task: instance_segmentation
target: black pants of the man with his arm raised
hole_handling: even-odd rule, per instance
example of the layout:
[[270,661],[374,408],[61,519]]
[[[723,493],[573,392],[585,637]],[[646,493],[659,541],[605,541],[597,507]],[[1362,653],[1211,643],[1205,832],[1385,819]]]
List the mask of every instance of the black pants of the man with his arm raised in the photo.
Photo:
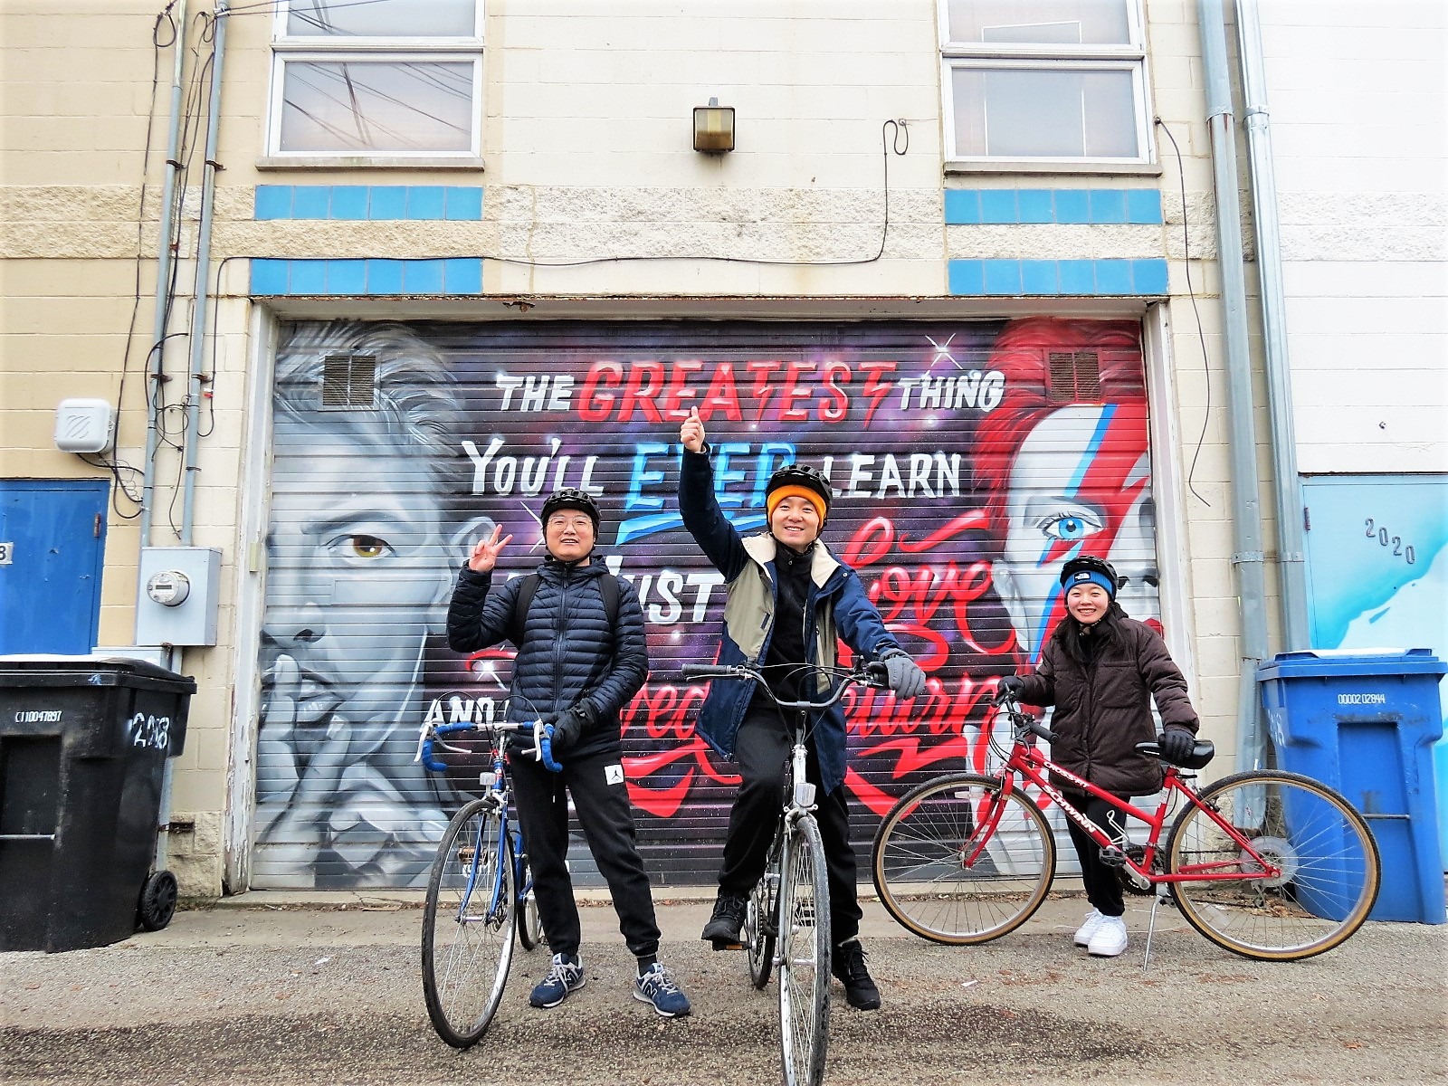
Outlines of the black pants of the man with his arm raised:
[[[815,821],[824,838],[824,862],[830,880],[830,934],[844,943],[860,934],[860,902],[856,888],[854,850],[850,849],[850,809],[844,785],[825,795],[811,736],[805,778],[815,785]],[[743,778],[728,815],[723,893],[747,895],[765,873],[769,846],[785,805],[785,770],[794,747],[794,730],[775,710],[752,710],[738,725],[734,760]]]

